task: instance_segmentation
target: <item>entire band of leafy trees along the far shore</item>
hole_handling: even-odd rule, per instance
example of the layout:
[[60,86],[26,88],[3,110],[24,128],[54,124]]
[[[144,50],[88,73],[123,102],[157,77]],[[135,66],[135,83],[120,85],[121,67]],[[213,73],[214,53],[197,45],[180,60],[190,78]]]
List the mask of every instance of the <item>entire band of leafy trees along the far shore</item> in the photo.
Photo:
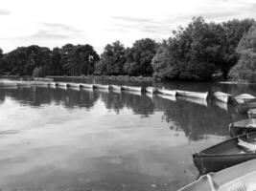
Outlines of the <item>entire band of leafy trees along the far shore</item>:
[[66,44],[53,50],[32,45],[10,53],[0,49],[0,74],[122,74],[159,80],[221,77],[256,81],[255,20],[207,23],[202,17],[195,17],[161,43],[144,38],[126,48],[116,41],[107,44],[101,55],[88,44]]

